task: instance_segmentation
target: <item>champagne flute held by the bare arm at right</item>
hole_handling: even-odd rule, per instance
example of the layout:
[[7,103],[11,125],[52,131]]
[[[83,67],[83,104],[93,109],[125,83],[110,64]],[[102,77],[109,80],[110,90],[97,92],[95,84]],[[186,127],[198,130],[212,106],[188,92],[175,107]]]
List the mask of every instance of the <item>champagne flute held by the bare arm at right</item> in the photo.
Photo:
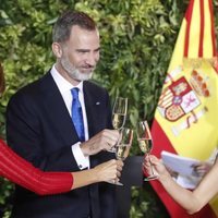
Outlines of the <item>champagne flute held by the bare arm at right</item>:
[[[149,157],[149,154],[153,148],[153,137],[152,137],[147,121],[141,121],[137,125],[137,142],[138,142],[141,150]],[[150,181],[150,180],[157,179],[157,175],[154,173],[152,162],[150,162],[150,171],[152,171],[152,174],[145,178],[144,181]]]

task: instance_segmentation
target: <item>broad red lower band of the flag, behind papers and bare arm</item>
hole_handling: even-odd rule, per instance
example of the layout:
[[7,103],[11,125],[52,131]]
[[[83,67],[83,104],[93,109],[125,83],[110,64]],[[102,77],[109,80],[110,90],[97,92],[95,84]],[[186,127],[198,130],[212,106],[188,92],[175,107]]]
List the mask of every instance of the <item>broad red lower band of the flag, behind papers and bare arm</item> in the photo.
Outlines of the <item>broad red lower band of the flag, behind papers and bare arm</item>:
[[[167,135],[165,134],[156,119],[154,119],[153,122],[152,134],[154,142],[154,155],[160,157],[160,153],[162,150],[175,153],[173,146],[171,145],[170,141],[168,140]],[[171,218],[217,218],[209,205],[206,205],[203,209],[194,215],[189,215],[179,204],[177,204],[170,197],[170,195],[165,191],[165,189],[158,181],[150,181],[150,184],[165,204]]]

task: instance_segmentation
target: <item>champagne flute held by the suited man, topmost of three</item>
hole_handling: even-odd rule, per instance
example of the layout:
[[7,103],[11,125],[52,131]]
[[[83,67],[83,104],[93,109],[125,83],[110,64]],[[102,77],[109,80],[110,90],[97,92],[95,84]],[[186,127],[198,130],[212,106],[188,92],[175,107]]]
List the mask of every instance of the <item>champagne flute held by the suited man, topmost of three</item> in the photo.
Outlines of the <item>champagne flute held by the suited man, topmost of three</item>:
[[[125,124],[128,113],[128,98],[116,97],[112,109],[112,125],[114,130],[121,130]],[[116,147],[111,147],[108,152],[116,153]]]

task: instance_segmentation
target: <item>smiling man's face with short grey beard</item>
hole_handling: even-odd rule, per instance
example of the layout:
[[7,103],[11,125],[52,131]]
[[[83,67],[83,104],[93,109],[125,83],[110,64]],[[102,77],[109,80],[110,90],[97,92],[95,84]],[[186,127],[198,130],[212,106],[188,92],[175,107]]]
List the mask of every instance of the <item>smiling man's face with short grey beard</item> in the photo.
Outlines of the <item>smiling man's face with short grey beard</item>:
[[89,80],[99,60],[99,49],[97,31],[73,26],[70,39],[62,46],[60,58],[66,77],[76,82]]

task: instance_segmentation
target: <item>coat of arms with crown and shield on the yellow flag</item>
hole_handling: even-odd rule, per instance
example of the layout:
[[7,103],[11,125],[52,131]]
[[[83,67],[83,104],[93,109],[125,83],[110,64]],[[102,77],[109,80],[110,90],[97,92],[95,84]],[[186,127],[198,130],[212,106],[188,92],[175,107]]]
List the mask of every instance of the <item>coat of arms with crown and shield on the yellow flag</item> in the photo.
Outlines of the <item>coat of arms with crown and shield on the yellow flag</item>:
[[[166,85],[169,85],[162,90],[157,107],[161,117],[168,121],[180,121],[171,128],[175,136],[181,131],[191,128],[208,111],[207,107],[202,104],[201,97],[208,98],[211,95],[209,77],[203,72],[192,70],[189,80],[182,73],[182,69],[178,68],[168,74]],[[180,77],[173,81],[175,75],[180,75]],[[186,118],[184,118],[185,116]]]

